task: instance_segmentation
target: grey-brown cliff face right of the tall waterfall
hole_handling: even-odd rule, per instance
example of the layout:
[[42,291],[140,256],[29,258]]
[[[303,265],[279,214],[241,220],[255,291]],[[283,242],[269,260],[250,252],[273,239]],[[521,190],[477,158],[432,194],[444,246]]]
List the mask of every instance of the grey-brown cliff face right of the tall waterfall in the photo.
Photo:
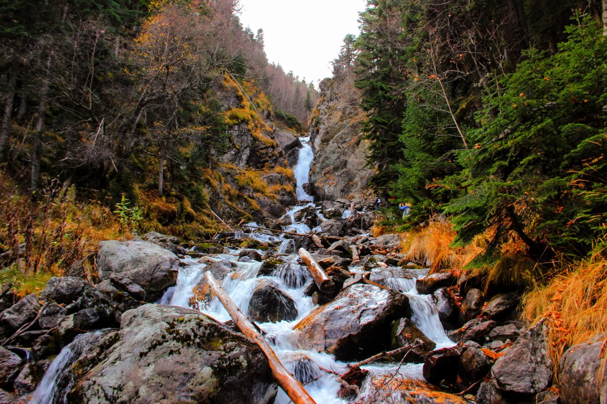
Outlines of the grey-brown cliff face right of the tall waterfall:
[[362,139],[365,116],[358,93],[351,84],[328,79],[320,90],[318,112],[310,123],[313,193],[320,200],[363,196],[374,170],[365,167],[368,141]]

